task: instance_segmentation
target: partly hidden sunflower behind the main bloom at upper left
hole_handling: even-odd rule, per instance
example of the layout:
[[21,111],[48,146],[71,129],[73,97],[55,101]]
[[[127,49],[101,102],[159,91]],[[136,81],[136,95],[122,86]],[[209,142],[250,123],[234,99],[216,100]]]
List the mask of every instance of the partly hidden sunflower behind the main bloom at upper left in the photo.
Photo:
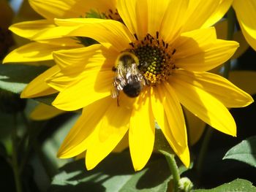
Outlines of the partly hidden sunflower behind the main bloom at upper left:
[[[34,35],[49,28],[54,28],[54,18],[86,18],[94,12],[118,20],[116,15],[116,0],[104,1],[78,1],[78,0],[29,0],[30,6],[42,16],[40,20],[24,21],[10,26],[10,31],[20,37],[32,40]],[[94,10],[94,12],[91,12]],[[4,58],[3,63],[26,63],[45,64],[45,61],[53,60],[53,51],[69,50],[84,47],[79,37],[57,38],[45,41],[33,41],[18,47]],[[50,64],[50,69],[32,80],[21,94],[22,97],[31,98],[36,96],[46,96],[56,93],[45,83],[45,78],[59,71],[58,66]]]

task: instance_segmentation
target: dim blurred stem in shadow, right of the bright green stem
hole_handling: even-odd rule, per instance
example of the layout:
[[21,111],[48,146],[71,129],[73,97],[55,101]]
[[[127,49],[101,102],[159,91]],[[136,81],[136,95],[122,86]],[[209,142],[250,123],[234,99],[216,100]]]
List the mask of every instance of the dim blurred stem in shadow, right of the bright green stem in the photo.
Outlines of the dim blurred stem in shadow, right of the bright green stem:
[[208,150],[208,145],[210,143],[211,140],[211,135],[213,132],[213,128],[211,128],[210,126],[206,126],[206,134],[203,137],[203,142],[200,148],[200,152],[197,158],[197,164],[195,165],[195,170],[197,172],[197,177],[200,179],[201,174],[202,174],[202,168],[203,168],[203,161],[206,157],[207,154],[207,150]]

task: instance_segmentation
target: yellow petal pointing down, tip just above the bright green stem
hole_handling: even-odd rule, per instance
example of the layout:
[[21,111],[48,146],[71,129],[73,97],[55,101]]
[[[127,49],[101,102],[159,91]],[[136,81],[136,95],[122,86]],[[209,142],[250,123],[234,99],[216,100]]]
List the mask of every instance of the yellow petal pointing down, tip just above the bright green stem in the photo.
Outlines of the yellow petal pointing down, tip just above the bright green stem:
[[[181,107],[179,103],[176,103],[178,102],[176,100],[176,94],[173,94],[169,99],[167,97],[170,96],[168,92],[169,91],[166,91],[164,86],[154,88],[154,94],[151,95],[152,111],[154,113],[154,118],[157,120],[157,123],[165,135],[167,142],[169,142],[170,147],[172,147],[173,151],[178,155],[184,165],[189,166],[189,149],[187,146],[187,132],[186,125],[184,123],[184,116],[182,111],[179,109],[178,112],[170,113],[170,110],[173,109],[170,108],[170,106],[165,106],[167,103],[173,103],[175,100],[174,106],[176,106],[176,108],[178,105]],[[167,100],[169,100],[169,102],[167,102]],[[170,109],[165,110],[165,108]],[[178,118],[176,118],[177,116]],[[177,132],[178,135],[176,135]],[[181,133],[183,134],[182,136]]]

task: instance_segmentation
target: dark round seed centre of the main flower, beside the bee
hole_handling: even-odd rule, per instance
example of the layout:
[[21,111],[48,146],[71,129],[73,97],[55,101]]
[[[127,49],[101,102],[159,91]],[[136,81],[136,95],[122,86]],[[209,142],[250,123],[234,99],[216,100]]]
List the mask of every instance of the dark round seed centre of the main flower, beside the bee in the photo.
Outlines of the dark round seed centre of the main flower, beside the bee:
[[173,54],[176,50],[159,38],[159,33],[152,37],[147,34],[143,40],[130,43],[132,49],[129,51],[134,53],[139,59],[138,69],[143,74],[148,85],[156,85],[167,78],[176,68],[174,64]]

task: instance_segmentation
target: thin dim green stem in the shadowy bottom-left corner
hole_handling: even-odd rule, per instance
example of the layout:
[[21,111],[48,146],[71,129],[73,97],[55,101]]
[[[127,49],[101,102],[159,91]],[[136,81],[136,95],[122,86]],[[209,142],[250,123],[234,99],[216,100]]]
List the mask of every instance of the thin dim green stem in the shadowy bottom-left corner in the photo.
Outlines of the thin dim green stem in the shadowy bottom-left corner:
[[17,115],[14,114],[14,126],[12,128],[12,169],[15,178],[16,191],[22,191],[20,180],[20,172],[18,168],[18,153],[17,153]]

